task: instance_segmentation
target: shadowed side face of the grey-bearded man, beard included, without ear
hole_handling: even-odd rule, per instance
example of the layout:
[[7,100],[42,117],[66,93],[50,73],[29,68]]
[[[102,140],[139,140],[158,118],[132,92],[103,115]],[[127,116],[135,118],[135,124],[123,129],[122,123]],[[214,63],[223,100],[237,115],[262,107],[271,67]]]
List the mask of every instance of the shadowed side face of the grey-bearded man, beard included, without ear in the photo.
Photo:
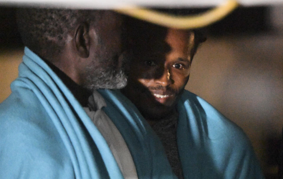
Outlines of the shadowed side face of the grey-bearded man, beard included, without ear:
[[90,28],[94,42],[90,50],[91,63],[87,65],[84,86],[90,89],[122,88],[126,86],[125,58],[122,55],[119,14],[101,11],[95,27]]

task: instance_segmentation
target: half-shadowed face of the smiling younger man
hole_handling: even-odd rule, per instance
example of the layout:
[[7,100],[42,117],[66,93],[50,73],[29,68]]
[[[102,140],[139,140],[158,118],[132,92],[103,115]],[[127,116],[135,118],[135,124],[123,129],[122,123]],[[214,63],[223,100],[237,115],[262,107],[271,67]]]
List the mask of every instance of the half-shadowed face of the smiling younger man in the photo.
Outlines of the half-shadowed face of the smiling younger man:
[[[141,35],[143,36],[143,35]],[[152,30],[135,44],[128,85],[123,93],[148,119],[175,109],[189,79],[194,34],[177,29]]]

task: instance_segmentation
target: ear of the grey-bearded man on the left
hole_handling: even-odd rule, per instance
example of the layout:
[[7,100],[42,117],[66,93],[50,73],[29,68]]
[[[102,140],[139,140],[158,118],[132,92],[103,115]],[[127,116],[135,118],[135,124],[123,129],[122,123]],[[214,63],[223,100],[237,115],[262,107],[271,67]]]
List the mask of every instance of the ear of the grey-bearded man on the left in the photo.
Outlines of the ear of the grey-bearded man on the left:
[[78,26],[75,33],[75,47],[82,58],[88,58],[90,37],[89,37],[89,25],[88,23],[82,23]]

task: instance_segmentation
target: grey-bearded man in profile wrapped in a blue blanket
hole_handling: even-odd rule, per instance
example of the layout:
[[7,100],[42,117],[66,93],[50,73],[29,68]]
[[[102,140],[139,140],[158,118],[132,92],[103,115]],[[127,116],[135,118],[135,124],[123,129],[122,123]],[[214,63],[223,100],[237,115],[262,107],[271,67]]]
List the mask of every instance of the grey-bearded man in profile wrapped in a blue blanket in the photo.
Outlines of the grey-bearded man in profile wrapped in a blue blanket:
[[0,104],[0,178],[176,179],[136,108],[99,89],[127,81],[121,17],[59,9],[18,17],[27,47]]

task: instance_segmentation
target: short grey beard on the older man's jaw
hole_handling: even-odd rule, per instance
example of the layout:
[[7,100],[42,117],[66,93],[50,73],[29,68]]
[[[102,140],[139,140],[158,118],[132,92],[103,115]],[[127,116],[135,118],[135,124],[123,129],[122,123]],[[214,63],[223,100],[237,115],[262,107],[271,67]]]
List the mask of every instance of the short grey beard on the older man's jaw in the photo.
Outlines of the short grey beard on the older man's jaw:
[[126,86],[127,76],[124,69],[114,70],[113,67],[86,69],[84,87],[95,90],[99,88],[120,89]]

